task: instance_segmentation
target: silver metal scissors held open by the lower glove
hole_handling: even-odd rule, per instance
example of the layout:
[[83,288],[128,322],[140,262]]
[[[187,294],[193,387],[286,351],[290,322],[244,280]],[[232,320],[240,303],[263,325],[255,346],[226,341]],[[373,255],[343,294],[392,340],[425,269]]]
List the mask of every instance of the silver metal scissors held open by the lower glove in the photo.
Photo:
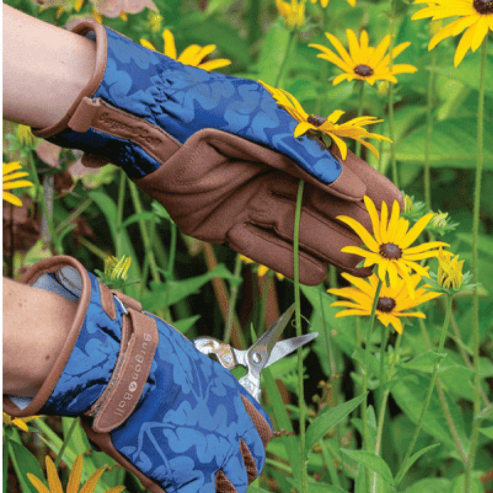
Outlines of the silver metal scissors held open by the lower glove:
[[318,332],[313,332],[276,342],[293,313],[294,304],[254,344],[243,351],[212,337],[198,337],[193,343],[195,348],[203,354],[214,355],[228,370],[244,366],[247,373],[238,382],[259,402],[260,372],[318,336]]

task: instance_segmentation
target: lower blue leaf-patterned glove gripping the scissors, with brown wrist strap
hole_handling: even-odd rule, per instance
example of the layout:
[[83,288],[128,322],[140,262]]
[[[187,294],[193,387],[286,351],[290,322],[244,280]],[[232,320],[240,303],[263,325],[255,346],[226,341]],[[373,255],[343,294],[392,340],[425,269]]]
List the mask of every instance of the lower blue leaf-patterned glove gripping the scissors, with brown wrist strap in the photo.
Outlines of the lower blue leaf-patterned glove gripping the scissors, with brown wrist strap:
[[4,395],[5,412],[81,416],[90,441],[152,493],[246,492],[272,430],[228,370],[72,257],[42,260],[21,282],[78,306],[35,397]]

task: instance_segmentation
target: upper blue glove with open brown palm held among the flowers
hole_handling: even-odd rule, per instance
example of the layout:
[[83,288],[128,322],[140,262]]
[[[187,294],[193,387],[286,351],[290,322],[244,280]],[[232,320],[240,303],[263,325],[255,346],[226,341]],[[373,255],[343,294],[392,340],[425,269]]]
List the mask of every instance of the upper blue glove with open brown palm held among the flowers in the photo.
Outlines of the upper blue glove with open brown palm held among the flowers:
[[82,149],[85,164],[121,166],[183,233],[225,244],[291,279],[296,193],[306,182],[300,281],[320,283],[327,263],[354,275],[359,238],[337,215],[371,227],[363,196],[390,207],[397,188],[351,152],[293,137],[297,122],[258,82],[182,65],[97,22],[96,68],[67,115],[35,134]]

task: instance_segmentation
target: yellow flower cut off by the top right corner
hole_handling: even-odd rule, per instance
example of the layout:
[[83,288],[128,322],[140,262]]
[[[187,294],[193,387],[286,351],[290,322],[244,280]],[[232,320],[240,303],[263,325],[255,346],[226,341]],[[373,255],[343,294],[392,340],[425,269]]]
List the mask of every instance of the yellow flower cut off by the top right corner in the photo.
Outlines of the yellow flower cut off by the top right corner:
[[426,6],[415,12],[411,19],[432,20],[458,19],[440,29],[430,40],[428,50],[432,50],[440,41],[457,36],[465,30],[458,42],[454,55],[454,66],[462,61],[467,50],[476,51],[488,31],[493,31],[493,0],[415,0],[414,3],[425,3]]

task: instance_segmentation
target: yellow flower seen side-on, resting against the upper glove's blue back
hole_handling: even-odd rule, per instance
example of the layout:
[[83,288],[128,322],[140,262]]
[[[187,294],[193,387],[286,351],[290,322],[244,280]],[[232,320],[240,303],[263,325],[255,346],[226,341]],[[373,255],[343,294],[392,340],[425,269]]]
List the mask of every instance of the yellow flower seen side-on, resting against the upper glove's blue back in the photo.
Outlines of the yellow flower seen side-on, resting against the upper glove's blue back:
[[329,136],[337,145],[341,152],[343,161],[348,154],[348,146],[341,138],[350,138],[370,149],[378,159],[378,151],[376,147],[363,139],[377,139],[378,141],[388,141],[387,137],[379,134],[368,132],[364,126],[379,123],[383,120],[377,120],[374,116],[360,116],[353,118],[345,123],[338,124],[337,121],[344,114],[344,111],[337,109],[333,111],[327,118],[320,115],[309,115],[298,100],[283,89],[276,89],[269,86],[265,82],[260,83],[271,93],[272,97],[281,105],[298,123],[294,129],[294,137],[299,137],[307,132],[320,136],[323,140],[323,135]]

